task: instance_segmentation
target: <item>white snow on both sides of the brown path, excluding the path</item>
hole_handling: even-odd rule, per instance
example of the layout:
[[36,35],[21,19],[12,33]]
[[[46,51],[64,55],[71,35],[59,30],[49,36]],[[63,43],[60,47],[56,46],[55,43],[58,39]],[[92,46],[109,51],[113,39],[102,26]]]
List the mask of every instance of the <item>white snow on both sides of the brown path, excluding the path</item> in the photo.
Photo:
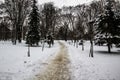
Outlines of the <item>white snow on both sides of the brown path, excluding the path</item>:
[[[107,53],[106,46],[94,46],[94,58],[89,58],[90,43],[85,42],[85,50],[81,46],[63,42],[70,58],[72,80],[120,80],[120,48],[112,48]],[[29,80],[40,73],[59,51],[58,41],[52,48],[45,46],[31,47],[31,57],[27,57],[27,45],[12,45],[11,42],[0,42],[0,80]]]

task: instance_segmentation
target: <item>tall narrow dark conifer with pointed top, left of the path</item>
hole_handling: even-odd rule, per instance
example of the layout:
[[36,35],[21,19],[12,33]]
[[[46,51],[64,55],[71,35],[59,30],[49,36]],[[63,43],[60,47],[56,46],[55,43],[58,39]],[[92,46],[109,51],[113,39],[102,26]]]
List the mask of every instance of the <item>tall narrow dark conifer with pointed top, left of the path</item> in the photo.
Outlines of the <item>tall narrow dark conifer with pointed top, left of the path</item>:
[[39,40],[39,13],[36,6],[36,0],[33,0],[32,11],[29,15],[29,30],[27,33],[26,43],[31,46],[33,44],[38,45]]

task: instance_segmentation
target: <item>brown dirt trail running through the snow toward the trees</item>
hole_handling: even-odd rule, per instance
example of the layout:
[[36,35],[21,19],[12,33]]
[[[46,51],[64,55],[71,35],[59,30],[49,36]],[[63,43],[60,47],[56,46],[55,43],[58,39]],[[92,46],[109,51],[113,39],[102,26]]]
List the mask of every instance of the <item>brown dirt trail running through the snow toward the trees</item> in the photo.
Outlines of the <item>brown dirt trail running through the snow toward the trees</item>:
[[69,56],[67,54],[67,48],[61,42],[60,51],[56,57],[50,61],[47,69],[43,73],[37,75],[37,80],[70,80],[69,73]]

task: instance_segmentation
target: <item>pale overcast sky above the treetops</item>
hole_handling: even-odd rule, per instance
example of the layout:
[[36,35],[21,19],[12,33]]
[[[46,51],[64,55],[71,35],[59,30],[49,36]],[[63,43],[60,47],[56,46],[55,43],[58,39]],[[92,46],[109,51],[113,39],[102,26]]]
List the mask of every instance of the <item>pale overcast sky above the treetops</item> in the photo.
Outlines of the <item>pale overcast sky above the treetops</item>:
[[[4,0],[0,0],[4,1]],[[89,3],[92,0],[38,0],[39,4],[43,4],[45,2],[54,2],[55,6],[62,7],[62,6],[74,6],[77,4]]]

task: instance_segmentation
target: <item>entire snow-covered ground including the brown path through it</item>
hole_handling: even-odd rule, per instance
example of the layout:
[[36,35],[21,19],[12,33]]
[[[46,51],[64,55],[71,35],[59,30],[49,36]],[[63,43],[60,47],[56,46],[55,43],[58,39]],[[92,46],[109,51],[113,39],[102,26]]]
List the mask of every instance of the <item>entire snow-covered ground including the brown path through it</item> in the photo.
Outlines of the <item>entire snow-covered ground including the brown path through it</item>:
[[94,58],[89,55],[90,43],[76,48],[72,43],[55,41],[44,51],[31,47],[27,57],[25,43],[12,45],[0,42],[0,80],[120,80],[120,48],[118,54],[105,54],[106,46],[94,46]]

